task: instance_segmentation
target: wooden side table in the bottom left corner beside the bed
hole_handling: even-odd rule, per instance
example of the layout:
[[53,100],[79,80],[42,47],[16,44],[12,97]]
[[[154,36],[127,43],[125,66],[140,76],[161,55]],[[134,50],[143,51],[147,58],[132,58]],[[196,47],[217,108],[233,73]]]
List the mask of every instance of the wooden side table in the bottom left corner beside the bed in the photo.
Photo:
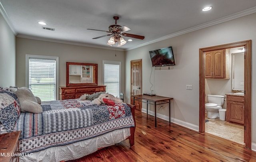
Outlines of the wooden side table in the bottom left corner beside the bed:
[[0,135],[0,162],[19,161],[20,131]]

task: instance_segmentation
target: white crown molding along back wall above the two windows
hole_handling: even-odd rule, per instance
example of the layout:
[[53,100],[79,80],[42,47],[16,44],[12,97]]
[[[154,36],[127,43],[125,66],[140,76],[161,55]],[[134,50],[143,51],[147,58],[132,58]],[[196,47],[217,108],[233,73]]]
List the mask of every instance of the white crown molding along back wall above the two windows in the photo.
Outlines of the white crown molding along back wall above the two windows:
[[63,41],[63,40],[54,40],[54,39],[49,39],[49,38],[39,38],[39,37],[22,35],[22,34],[18,34],[16,37],[26,38],[26,39],[31,39],[31,40],[50,41],[50,42],[54,42],[54,43],[64,43],[64,44],[70,44],[70,45],[80,45],[80,46],[84,46],[84,47],[101,48],[101,49],[109,49],[109,50],[116,50],[116,51],[125,51],[125,49],[122,49],[122,48],[104,47],[102,45],[89,45],[89,44],[86,44],[86,43],[80,43],[80,42],[74,42],[74,41]]

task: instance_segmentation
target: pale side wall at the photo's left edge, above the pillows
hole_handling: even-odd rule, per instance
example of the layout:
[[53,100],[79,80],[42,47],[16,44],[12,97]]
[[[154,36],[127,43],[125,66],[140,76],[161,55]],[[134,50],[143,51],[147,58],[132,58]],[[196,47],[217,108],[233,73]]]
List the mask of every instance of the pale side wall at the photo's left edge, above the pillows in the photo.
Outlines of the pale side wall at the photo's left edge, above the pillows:
[[0,87],[15,86],[15,35],[0,14]]

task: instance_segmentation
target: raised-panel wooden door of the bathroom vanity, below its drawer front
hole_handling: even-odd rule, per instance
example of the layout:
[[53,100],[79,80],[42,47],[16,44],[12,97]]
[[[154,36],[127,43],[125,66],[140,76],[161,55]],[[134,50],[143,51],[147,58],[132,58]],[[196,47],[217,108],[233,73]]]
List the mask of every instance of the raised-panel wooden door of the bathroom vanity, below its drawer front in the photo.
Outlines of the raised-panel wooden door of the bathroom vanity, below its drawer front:
[[244,124],[244,103],[229,101],[229,121]]

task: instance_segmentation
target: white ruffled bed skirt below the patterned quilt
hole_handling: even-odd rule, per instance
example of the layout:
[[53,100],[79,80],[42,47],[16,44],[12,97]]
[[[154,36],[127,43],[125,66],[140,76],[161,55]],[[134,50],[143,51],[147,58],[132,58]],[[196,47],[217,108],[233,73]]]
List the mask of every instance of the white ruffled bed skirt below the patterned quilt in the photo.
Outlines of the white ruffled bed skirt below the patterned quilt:
[[130,128],[118,129],[88,140],[24,154],[24,156],[20,156],[20,162],[59,162],[62,160],[74,160],[96,152],[99,148],[119,143],[128,136],[130,136]]

